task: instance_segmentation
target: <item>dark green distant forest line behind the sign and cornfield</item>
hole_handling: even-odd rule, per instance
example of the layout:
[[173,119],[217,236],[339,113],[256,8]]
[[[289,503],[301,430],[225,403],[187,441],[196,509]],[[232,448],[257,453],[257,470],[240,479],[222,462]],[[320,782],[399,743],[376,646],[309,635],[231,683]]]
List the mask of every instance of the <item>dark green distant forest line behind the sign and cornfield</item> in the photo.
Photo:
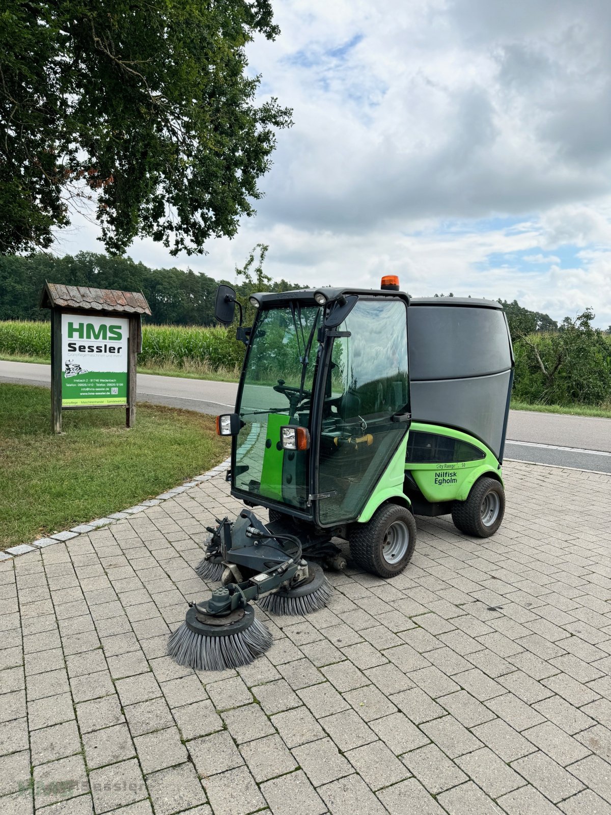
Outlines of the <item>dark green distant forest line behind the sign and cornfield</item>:
[[[215,324],[217,286],[226,282],[176,268],[150,269],[131,258],[109,258],[93,252],[64,258],[44,252],[28,257],[0,256],[0,320],[49,319],[50,312],[38,308],[45,280],[94,289],[141,291],[151,306],[152,323],[178,325]],[[248,282],[238,291],[244,291],[243,300],[248,302],[245,287]],[[297,288],[286,280],[271,285],[272,290],[280,292]]]

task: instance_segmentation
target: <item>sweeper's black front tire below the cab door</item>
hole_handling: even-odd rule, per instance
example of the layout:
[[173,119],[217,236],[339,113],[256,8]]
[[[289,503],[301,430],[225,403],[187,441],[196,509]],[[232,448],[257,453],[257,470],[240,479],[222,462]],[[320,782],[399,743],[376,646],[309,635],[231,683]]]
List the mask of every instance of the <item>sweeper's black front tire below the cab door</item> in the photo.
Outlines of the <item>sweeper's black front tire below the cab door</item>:
[[[395,526],[397,525],[397,526]],[[393,527],[393,530],[391,530]],[[389,535],[392,535],[389,541]],[[393,539],[405,541],[407,545],[401,557],[389,562],[385,556],[390,546],[391,556]],[[382,504],[367,523],[355,523],[349,531],[350,554],[355,563],[365,571],[379,577],[394,577],[405,569],[411,561],[415,548],[416,526],[414,516],[409,509],[399,504]],[[401,552],[404,543],[397,544]]]

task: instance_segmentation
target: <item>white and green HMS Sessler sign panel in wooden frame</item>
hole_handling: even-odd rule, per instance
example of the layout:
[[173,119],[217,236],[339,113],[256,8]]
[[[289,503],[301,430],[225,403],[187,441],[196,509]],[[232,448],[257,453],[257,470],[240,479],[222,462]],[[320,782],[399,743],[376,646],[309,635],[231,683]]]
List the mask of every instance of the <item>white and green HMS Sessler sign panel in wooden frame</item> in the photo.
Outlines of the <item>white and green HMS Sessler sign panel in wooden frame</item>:
[[127,339],[130,320],[62,315],[62,403],[127,403]]

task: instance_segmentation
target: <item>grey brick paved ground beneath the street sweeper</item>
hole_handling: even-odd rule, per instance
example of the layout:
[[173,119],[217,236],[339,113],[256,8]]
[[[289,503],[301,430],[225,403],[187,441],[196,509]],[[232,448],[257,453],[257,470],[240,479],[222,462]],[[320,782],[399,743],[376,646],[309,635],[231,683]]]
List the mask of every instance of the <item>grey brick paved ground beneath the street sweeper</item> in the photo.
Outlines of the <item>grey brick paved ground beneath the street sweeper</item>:
[[2,562],[0,812],[609,815],[611,478],[505,472],[494,538],[419,519],[237,672],[165,657],[223,478]]

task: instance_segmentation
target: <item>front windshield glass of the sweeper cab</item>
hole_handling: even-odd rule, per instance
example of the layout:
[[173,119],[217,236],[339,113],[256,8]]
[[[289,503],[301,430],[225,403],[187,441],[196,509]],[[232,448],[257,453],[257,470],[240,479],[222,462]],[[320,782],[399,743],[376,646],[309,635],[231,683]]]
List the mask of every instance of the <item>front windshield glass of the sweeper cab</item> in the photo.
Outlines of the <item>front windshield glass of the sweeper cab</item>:
[[237,412],[234,487],[306,509],[309,451],[284,451],[280,427],[310,428],[319,306],[262,311],[253,328]]

